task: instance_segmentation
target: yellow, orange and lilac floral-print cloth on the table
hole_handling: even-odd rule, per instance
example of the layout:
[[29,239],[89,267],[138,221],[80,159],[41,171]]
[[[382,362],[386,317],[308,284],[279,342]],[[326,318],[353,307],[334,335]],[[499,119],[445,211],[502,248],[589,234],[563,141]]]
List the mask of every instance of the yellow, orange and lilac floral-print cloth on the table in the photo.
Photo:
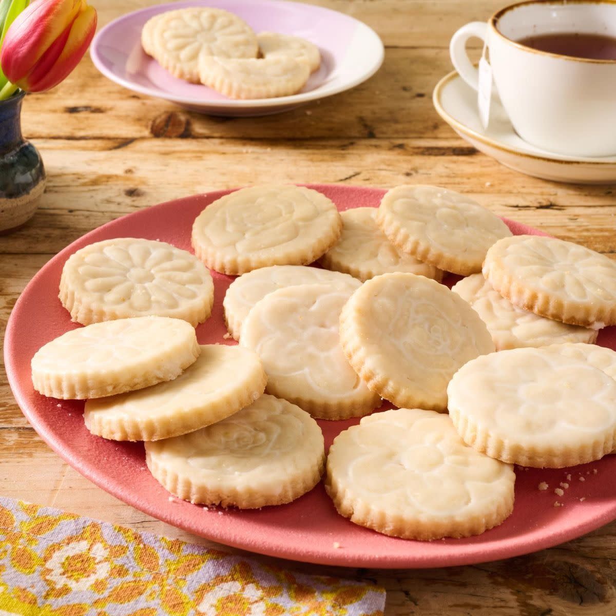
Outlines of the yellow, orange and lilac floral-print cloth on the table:
[[0,498],[0,614],[381,616],[385,591]]

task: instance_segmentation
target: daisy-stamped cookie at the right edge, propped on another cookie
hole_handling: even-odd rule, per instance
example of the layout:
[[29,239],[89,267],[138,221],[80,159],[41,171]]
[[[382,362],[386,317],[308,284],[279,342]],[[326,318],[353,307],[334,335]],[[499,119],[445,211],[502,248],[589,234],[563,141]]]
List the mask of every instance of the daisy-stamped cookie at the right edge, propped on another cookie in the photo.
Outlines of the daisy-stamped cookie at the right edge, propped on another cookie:
[[519,308],[571,325],[616,325],[616,263],[584,246],[516,235],[488,250],[483,272]]

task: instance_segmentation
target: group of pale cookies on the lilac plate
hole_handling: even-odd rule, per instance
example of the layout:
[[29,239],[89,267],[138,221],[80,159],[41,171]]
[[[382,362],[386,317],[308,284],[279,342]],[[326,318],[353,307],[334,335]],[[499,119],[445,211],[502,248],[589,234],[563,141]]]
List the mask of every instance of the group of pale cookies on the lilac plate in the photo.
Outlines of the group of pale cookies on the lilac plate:
[[208,7],[150,18],[141,44],[180,79],[202,83],[233,99],[265,99],[299,92],[318,69],[317,46],[298,36],[255,34],[237,15]]

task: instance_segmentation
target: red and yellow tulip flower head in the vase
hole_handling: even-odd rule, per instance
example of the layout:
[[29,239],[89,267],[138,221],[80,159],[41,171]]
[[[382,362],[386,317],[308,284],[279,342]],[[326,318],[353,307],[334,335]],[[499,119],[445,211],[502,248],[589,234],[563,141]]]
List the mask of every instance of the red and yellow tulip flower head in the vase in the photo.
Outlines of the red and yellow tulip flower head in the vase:
[[[86,0],[33,0],[0,41],[0,67],[13,91],[57,86],[86,53],[95,30],[96,11]],[[6,89],[0,90],[0,98]]]

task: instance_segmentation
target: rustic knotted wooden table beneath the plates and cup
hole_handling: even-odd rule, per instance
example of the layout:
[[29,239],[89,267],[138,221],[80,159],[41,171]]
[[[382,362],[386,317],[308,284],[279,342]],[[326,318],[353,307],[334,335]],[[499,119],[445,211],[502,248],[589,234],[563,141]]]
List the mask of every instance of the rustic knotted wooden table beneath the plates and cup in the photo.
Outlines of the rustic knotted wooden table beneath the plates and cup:
[[[95,2],[100,25],[153,3]],[[616,251],[614,187],[555,184],[510,171],[459,139],[432,108],[432,88],[451,70],[450,36],[487,18],[503,0],[317,3],[372,26],[387,47],[385,62],[354,90],[283,115],[187,113],[116,86],[88,58],[60,87],[25,100],[23,129],[41,151],[49,181],[33,221],[0,237],[0,331],[28,280],[83,233],[161,201],[255,182],[437,184],[557,237]],[[30,428],[0,372],[0,494],[203,541],[73,471]],[[376,580],[387,589],[388,616],[607,615],[616,613],[615,540],[616,522],[557,548],[472,567],[285,566]]]

